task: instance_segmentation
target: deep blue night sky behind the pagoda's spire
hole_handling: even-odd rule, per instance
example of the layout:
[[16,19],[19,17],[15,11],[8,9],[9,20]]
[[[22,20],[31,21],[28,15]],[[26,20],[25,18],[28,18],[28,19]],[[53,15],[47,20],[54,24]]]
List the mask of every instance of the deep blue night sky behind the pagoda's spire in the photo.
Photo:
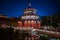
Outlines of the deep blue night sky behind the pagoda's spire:
[[28,2],[36,8],[40,16],[49,16],[60,11],[60,1],[58,0],[0,0],[0,14],[8,17],[19,17],[23,10],[28,7]]

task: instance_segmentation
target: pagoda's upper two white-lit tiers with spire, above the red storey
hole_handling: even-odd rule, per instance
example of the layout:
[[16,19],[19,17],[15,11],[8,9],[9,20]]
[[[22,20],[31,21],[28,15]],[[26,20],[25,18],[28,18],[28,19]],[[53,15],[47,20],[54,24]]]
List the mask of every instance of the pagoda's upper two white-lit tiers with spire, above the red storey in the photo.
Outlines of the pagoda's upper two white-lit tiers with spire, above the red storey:
[[29,3],[28,7],[24,10],[24,15],[21,17],[23,20],[36,20],[39,19],[39,16],[36,14],[37,10],[31,7],[31,3]]

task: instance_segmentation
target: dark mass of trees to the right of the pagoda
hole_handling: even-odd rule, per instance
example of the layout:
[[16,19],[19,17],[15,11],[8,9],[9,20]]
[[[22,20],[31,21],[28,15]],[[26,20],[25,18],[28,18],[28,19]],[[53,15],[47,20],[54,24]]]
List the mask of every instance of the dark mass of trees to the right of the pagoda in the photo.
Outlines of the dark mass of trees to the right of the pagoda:
[[60,26],[58,25],[60,24],[60,13],[53,16],[43,16],[42,18],[42,26],[53,26],[54,28]]

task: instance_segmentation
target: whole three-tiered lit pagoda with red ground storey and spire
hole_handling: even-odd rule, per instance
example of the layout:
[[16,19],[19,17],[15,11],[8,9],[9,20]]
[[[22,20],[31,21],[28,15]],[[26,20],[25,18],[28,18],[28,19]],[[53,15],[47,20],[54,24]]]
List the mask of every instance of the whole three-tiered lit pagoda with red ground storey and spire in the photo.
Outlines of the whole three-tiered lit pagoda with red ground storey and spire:
[[34,29],[39,29],[41,27],[40,17],[37,15],[37,10],[31,7],[31,3],[24,10],[24,15],[20,17],[18,21],[19,27],[33,27]]

